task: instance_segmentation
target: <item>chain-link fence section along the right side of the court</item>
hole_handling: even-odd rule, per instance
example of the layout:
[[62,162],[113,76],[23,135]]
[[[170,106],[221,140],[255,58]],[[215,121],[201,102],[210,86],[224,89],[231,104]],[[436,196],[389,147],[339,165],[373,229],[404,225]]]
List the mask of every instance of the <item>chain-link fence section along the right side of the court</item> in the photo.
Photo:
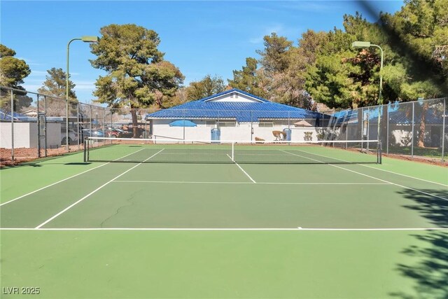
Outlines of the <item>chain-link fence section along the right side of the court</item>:
[[330,115],[329,139],[379,139],[386,155],[446,161],[447,98],[395,102]]

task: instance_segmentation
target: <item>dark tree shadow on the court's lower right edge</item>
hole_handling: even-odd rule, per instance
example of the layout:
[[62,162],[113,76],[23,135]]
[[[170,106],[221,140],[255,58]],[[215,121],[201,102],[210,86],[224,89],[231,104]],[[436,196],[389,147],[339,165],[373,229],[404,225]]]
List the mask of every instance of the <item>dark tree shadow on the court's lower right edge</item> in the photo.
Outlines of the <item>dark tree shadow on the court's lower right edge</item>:
[[[414,203],[405,205],[407,209],[418,211],[433,223],[435,228],[448,228],[448,190],[402,190],[399,193]],[[400,263],[396,270],[412,279],[414,294],[396,292],[390,295],[403,299],[448,298],[448,231],[431,230],[412,234],[415,244],[409,245],[402,253],[415,261],[405,265]],[[418,245],[416,245],[418,244]]]

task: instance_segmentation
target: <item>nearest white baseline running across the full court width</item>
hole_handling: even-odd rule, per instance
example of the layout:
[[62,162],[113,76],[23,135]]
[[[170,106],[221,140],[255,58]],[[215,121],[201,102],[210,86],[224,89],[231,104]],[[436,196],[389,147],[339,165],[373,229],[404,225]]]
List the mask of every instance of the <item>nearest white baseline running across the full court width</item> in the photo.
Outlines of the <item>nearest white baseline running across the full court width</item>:
[[286,230],[309,230],[309,231],[396,231],[396,230],[446,230],[448,228],[0,228],[0,230],[55,230],[55,231],[89,231],[89,230],[171,230],[171,231],[232,231],[232,230],[241,230],[241,231],[262,231],[262,230],[277,230],[277,231],[286,231]]

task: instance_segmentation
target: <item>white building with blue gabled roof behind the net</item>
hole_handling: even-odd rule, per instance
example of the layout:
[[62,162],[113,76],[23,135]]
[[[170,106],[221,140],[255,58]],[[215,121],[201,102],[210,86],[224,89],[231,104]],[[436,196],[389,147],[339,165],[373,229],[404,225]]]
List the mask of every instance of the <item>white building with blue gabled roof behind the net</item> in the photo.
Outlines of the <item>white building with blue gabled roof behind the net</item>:
[[[146,120],[150,121],[150,134],[154,137],[242,141],[255,137],[265,140],[287,138],[285,134],[275,137],[273,131],[288,132],[291,140],[303,140],[306,131],[307,138],[314,135],[313,139],[317,139],[316,128],[322,127],[329,118],[323,113],[269,102],[235,88],[146,115]],[[195,126],[170,125],[176,120],[188,120]],[[303,127],[303,122],[295,125],[303,120],[309,126]]]

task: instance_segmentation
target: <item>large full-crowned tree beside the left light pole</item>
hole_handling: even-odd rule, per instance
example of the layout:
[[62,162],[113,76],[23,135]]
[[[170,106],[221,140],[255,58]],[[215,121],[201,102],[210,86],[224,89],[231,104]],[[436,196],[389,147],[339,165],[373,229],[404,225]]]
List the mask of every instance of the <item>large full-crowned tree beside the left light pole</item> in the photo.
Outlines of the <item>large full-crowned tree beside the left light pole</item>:
[[92,66],[108,74],[99,76],[94,95],[112,108],[129,107],[134,137],[138,136],[137,111],[164,97],[174,95],[183,75],[158,50],[156,32],[134,24],[108,25],[100,29],[102,38],[90,46],[97,59]]

